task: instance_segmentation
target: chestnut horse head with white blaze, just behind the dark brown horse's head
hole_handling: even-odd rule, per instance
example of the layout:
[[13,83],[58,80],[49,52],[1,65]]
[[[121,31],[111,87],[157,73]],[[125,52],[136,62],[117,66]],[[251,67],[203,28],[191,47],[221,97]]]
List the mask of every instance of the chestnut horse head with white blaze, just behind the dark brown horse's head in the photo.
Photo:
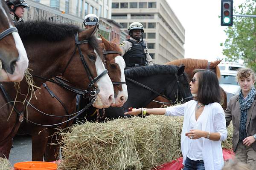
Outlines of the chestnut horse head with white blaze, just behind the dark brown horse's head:
[[114,87],[114,100],[111,106],[122,107],[128,98],[124,72],[125,61],[121,56],[122,50],[117,39],[108,42],[102,35],[100,37],[105,47],[105,67]]

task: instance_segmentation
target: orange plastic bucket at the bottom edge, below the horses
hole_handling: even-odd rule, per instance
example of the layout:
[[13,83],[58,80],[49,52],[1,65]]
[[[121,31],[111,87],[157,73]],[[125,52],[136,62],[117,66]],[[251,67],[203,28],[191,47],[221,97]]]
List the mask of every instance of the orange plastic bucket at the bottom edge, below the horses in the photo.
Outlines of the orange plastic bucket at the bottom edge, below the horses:
[[43,161],[27,161],[14,164],[15,170],[57,170],[57,164]]

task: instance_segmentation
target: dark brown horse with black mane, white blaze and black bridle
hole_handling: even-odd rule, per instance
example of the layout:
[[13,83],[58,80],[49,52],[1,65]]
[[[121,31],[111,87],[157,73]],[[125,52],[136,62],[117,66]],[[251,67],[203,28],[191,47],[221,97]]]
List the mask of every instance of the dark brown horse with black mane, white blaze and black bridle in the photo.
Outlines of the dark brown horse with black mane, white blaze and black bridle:
[[[102,52],[99,50],[99,43],[94,36],[97,26],[81,31],[73,25],[36,21],[18,24],[16,27],[26,48],[29,68],[33,70],[32,74],[46,79],[62,75],[70,84],[81,88],[84,94],[87,92],[85,89],[96,90],[97,99],[93,103],[94,106],[102,108],[111,105],[114,95],[113,85],[109,76],[105,74],[107,71],[99,56]],[[41,86],[45,79],[34,77],[34,81],[35,86]],[[90,88],[88,88],[88,84],[91,86]],[[24,101],[26,97],[29,100],[31,97],[31,88],[28,88],[28,84],[24,80],[20,83],[19,93],[14,89],[13,83],[3,83],[3,86],[0,87],[3,91],[0,95],[1,106],[6,104],[6,101],[14,101],[16,94],[16,101]],[[43,106],[44,102],[41,105]],[[0,156],[7,158],[12,138],[23,120],[23,112],[25,115],[27,113],[26,107],[21,103],[15,104],[17,113],[10,114],[11,110],[12,106],[6,104],[0,112]],[[26,118],[29,119],[29,117]]]

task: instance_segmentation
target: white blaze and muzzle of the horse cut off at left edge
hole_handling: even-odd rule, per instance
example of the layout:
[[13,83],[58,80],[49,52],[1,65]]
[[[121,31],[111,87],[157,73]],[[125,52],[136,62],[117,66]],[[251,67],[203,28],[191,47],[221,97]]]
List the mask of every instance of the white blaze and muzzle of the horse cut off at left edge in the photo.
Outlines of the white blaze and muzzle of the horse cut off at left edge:
[[[6,16],[6,18],[8,18],[10,28],[13,27],[11,24],[12,21],[9,20],[9,17],[3,9],[2,4],[0,6],[0,9],[3,11],[3,14]],[[15,40],[15,46],[18,51],[19,57],[17,62],[15,63],[15,72],[13,74],[9,74],[4,69],[0,68],[0,81],[21,81],[23,79],[24,72],[29,65],[29,59],[27,57],[26,50],[23,46],[19,34],[17,32],[13,32],[12,36]]]

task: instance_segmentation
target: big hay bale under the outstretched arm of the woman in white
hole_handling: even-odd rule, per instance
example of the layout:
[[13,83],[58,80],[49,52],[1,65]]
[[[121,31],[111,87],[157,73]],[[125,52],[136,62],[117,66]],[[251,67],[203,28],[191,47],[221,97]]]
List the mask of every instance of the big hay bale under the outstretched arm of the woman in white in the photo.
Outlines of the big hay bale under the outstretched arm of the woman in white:
[[[151,115],[75,125],[68,133],[60,133],[63,160],[59,169],[152,169],[182,156],[182,124],[183,117]],[[230,149],[233,132],[228,132],[222,145]]]

